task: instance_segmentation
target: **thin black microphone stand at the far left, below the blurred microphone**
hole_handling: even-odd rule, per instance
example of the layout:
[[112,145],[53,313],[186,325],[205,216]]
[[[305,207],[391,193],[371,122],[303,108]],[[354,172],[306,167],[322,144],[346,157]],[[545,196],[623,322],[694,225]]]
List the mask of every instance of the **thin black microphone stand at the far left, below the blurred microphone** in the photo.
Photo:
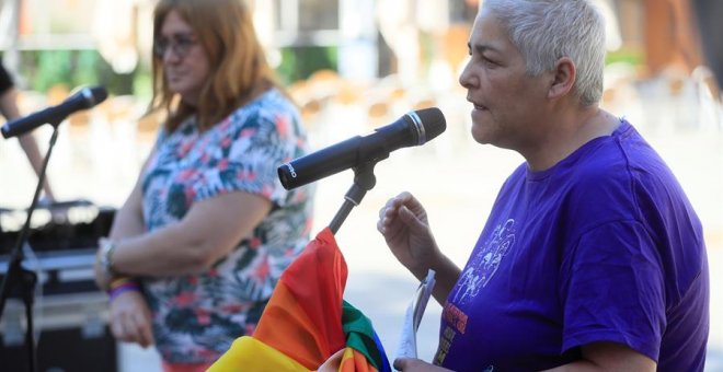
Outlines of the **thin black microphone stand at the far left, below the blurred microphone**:
[[8,261],[8,271],[5,272],[4,278],[2,279],[2,287],[0,287],[0,318],[2,318],[2,313],[5,307],[5,301],[10,297],[10,290],[14,286],[19,286],[20,297],[25,304],[25,318],[27,321],[27,327],[25,329],[25,347],[27,349],[27,364],[31,372],[36,371],[36,356],[35,356],[35,339],[33,335],[33,301],[35,295],[35,284],[37,283],[37,275],[23,267],[23,249],[30,235],[30,224],[33,217],[33,211],[37,207],[37,200],[41,195],[41,189],[45,182],[45,172],[48,166],[48,161],[50,160],[50,153],[55,147],[55,142],[58,138],[58,123],[50,123],[53,125],[53,136],[50,137],[50,144],[48,151],[45,154],[45,160],[43,161],[43,168],[37,179],[37,187],[35,187],[35,195],[33,195],[33,201],[31,207],[27,210],[27,216],[25,218],[25,224],[20,231],[18,241]]

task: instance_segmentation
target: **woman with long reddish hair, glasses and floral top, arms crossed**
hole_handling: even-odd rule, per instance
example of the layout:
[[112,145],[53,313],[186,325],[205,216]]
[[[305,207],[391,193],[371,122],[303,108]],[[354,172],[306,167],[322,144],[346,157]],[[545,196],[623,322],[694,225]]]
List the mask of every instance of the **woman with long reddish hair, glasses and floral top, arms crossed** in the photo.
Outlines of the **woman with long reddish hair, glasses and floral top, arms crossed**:
[[161,0],[153,37],[150,109],[168,119],[96,281],[117,339],[154,344],[164,371],[204,371],[253,332],[309,242],[312,190],[276,175],[307,140],[243,0]]

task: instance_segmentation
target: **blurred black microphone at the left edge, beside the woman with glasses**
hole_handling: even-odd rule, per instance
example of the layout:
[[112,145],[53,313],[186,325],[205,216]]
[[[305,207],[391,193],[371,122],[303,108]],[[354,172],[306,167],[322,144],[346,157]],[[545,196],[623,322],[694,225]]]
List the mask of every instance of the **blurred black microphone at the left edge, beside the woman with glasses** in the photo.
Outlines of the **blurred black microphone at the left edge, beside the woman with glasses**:
[[107,98],[108,92],[103,86],[83,88],[76,94],[69,96],[61,104],[47,107],[37,113],[5,123],[2,127],[2,137],[10,138],[22,136],[44,124],[57,126],[70,114],[91,108]]

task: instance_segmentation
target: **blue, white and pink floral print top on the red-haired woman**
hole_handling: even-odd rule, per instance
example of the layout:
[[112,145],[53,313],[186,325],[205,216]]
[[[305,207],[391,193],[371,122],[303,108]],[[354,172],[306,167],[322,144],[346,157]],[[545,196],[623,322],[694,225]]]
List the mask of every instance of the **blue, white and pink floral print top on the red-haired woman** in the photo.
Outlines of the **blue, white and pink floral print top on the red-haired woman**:
[[309,242],[312,189],[286,190],[276,173],[306,153],[296,107],[269,90],[199,132],[195,117],[161,130],[142,174],[149,231],[174,223],[194,202],[245,191],[272,201],[250,236],[202,275],[141,278],[153,336],[170,363],[213,362],[253,332],[278,277]]

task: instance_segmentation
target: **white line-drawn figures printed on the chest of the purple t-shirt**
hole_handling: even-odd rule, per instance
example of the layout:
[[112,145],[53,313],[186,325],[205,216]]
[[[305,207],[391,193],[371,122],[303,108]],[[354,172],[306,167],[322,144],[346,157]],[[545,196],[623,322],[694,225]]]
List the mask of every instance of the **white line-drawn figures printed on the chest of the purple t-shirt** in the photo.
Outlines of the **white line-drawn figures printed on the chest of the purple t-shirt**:
[[459,278],[452,302],[466,304],[477,297],[480,289],[486,287],[497,272],[502,259],[514,244],[515,220],[508,219],[494,229],[491,239],[470,259],[469,265]]

